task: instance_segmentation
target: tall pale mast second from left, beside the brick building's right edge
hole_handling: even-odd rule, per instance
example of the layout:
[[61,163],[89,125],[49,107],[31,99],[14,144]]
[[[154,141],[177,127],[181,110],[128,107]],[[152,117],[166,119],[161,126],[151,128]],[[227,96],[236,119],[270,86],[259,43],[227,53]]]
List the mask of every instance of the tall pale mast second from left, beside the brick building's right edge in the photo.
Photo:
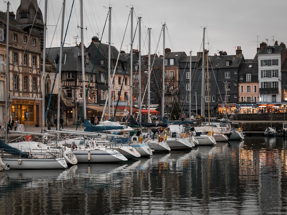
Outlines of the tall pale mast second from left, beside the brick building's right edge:
[[[42,73],[42,131],[44,132],[45,128],[45,72],[46,72],[46,25],[47,25],[47,3],[48,0],[45,0],[45,15],[44,15],[44,36],[43,36],[43,73]],[[44,138],[44,136],[43,136]]]

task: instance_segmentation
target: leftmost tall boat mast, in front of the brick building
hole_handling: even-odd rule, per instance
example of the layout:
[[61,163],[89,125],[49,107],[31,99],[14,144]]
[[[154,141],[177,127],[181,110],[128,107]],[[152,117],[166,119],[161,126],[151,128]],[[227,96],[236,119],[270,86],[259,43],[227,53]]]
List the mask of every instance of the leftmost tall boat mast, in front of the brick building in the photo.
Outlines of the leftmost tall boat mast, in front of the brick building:
[[5,122],[5,143],[8,140],[8,81],[9,81],[9,1],[7,2],[7,23],[6,23],[6,83],[5,83],[5,114],[6,114],[6,122]]

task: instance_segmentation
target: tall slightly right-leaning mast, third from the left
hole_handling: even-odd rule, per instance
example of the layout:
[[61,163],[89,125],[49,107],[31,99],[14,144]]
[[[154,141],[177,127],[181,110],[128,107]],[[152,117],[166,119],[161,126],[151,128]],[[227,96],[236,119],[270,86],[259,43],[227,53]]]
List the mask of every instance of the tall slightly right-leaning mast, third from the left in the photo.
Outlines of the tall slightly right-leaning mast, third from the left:
[[[59,89],[58,89],[58,111],[57,111],[57,130],[60,128],[60,101],[61,101],[61,73],[62,73],[62,55],[63,55],[63,28],[64,28],[64,19],[65,19],[65,4],[66,0],[63,0],[63,12],[62,12],[62,26],[61,26],[61,46],[60,46],[60,57],[59,57]],[[59,138],[59,136],[58,136]]]

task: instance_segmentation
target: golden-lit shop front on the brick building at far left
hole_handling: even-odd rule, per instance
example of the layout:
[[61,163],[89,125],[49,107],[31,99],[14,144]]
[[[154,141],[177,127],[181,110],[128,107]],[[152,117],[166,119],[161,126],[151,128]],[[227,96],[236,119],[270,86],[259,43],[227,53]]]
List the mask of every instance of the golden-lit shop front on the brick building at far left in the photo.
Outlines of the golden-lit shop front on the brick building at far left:
[[37,115],[42,114],[40,112],[41,102],[41,100],[13,99],[10,105],[12,118],[14,121],[18,118],[20,124],[24,126],[39,126],[41,120]]

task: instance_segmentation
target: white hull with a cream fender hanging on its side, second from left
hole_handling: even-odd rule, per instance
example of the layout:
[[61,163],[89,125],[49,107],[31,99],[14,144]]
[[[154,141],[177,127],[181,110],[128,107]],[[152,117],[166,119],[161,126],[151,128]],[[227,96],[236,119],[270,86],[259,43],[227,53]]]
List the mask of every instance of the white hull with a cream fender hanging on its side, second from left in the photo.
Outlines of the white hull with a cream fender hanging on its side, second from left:
[[127,161],[117,150],[106,147],[81,148],[73,150],[78,163],[109,163]]

